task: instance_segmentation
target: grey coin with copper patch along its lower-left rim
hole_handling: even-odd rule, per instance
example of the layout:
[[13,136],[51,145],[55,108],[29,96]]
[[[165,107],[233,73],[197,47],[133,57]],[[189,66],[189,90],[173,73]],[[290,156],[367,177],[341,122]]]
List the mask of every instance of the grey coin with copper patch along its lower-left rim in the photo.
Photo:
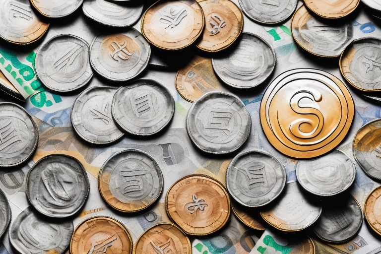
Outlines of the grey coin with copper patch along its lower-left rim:
[[114,154],[102,166],[98,188],[103,199],[122,212],[147,208],[163,189],[163,175],[147,153],[127,149]]

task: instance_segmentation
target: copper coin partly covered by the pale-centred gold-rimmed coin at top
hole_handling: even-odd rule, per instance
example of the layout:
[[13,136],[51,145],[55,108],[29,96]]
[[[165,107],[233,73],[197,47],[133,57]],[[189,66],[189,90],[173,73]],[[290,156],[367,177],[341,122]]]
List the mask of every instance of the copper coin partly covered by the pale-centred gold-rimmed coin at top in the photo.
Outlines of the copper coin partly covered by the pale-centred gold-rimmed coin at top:
[[241,34],[244,17],[230,0],[199,0],[205,15],[205,29],[197,48],[216,52],[229,47]]

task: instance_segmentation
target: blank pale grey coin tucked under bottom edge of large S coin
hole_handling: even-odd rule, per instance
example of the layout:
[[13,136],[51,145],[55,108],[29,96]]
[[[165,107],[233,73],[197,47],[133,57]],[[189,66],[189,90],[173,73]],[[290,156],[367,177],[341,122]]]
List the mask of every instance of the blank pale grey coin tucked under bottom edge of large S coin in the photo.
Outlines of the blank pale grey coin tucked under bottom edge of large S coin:
[[331,196],[347,190],[355,180],[356,168],[339,150],[313,160],[299,160],[296,177],[300,185],[313,194]]

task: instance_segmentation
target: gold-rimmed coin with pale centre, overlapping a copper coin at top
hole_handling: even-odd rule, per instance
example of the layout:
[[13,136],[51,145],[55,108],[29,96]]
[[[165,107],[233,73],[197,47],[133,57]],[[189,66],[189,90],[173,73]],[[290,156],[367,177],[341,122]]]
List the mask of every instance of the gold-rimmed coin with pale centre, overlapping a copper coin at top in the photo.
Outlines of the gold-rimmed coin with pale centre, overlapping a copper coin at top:
[[141,31],[156,47],[179,50],[200,36],[204,23],[201,6],[195,0],[157,1],[144,12]]

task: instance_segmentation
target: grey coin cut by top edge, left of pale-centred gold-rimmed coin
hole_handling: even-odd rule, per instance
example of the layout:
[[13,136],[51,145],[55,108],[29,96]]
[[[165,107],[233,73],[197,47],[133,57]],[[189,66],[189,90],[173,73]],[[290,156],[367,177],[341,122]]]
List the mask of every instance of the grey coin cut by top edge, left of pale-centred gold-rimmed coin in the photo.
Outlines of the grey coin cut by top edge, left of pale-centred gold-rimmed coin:
[[108,26],[127,27],[135,23],[143,11],[143,3],[120,4],[106,0],[87,0],[82,5],[86,16]]

